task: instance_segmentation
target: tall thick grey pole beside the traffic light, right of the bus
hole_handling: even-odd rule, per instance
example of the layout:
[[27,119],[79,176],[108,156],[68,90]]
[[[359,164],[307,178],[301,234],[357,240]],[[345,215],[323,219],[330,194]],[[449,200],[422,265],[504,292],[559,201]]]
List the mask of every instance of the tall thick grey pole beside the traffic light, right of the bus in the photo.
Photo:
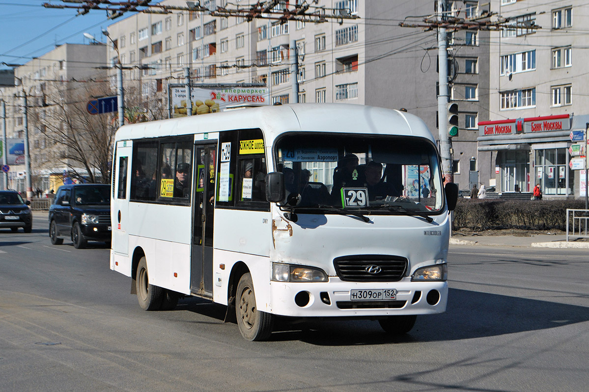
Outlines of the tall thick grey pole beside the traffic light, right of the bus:
[[446,106],[448,105],[448,38],[446,35],[446,28],[444,21],[446,19],[446,11],[448,1],[438,0],[436,3],[438,9],[438,137],[440,141],[440,156],[442,158],[442,174],[445,182],[454,182],[454,173],[452,172],[452,143],[448,135],[446,122]]

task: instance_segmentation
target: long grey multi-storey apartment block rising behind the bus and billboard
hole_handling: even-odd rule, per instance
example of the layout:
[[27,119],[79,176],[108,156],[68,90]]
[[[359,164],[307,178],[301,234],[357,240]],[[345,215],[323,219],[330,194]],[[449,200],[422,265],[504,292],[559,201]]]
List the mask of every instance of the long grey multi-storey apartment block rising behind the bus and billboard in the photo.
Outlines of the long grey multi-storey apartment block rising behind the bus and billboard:
[[[186,6],[181,0],[162,3]],[[200,2],[209,9],[248,8],[256,3]],[[125,94],[128,89],[141,92],[134,102],[125,98],[125,104],[143,105],[148,112],[154,105],[167,107],[167,86],[184,83],[186,68],[196,85],[262,82],[267,85],[270,104],[293,102],[290,63],[294,42],[299,102],[405,108],[422,117],[437,137],[435,30],[423,32],[398,25],[407,15],[431,14],[432,2],[319,0],[312,6],[346,9],[360,18],[324,23],[272,19],[248,22],[239,17],[173,11],[130,14],[115,21],[108,26],[108,58],[111,64],[120,59],[127,68]],[[480,12],[478,2],[472,1],[458,2],[458,10],[461,16]],[[477,121],[488,119],[488,32],[456,32],[452,39],[452,99],[460,102],[461,110],[461,130],[453,141],[455,181],[461,188],[468,188],[469,181],[488,182],[488,173],[494,167],[488,159],[479,157],[489,153],[478,153],[476,142]],[[114,84],[115,71],[110,75]],[[444,132],[445,128],[444,124]],[[479,167],[484,167],[487,178],[484,174],[479,178]]]

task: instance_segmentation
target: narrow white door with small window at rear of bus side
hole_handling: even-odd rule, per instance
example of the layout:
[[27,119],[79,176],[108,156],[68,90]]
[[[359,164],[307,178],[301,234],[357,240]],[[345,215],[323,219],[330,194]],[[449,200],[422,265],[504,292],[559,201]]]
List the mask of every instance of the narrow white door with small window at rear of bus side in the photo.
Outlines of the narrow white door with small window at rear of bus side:
[[112,250],[116,254],[127,255],[129,252],[129,167],[133,144],[129,141],[118,141],[115,173],[114,195],[112,195],[111,230]]

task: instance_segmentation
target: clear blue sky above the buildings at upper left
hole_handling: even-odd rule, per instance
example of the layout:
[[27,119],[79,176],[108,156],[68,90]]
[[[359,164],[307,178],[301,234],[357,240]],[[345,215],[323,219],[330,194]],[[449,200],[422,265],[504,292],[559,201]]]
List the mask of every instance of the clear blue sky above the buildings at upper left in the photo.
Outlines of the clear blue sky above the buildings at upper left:
[[[102,28],[114,21],[106,11],[77,15],[73,8],[45,8],[44,3],[74,5],[61,0],[0,0],[0,62],[24,64],[61,44],[88,44],[87,32],[105,42]],[[1,69],[6,69],[2,64]]]

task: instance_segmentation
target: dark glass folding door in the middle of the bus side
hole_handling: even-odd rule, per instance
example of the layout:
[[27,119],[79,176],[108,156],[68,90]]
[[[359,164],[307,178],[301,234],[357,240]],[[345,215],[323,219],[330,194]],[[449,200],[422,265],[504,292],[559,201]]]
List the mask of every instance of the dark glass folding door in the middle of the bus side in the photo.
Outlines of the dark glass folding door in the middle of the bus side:
[[213,297],[213,204],[216,181],[216,144],[194,146],[193,238],[190,291]]

